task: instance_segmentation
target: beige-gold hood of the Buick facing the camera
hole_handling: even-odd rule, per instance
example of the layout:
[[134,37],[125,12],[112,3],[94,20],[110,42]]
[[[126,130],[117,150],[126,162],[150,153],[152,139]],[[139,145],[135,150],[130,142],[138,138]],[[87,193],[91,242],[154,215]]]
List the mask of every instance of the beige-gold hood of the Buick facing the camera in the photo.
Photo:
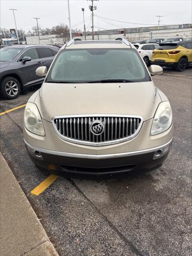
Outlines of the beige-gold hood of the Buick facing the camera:
[[55,116],[115,114],[138,115],[146,121],[155,114],[161,98],[153,82],[141,83],[44,83],[35,103],[42,118]]

